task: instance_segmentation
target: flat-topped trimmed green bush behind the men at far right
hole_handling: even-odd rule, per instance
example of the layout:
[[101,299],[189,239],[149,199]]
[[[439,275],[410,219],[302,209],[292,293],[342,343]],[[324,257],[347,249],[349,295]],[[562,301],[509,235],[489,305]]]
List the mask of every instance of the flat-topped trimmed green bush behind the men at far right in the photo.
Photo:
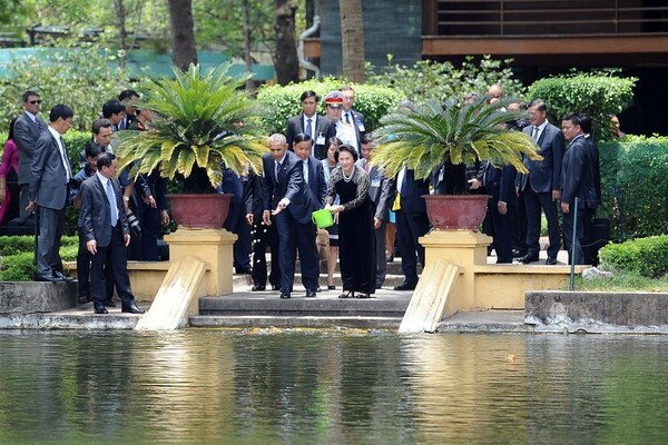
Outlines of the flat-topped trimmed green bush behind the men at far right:
[[621,111],[633,98],[637,81],[637,78],[615,77],[610,72],[574,72],[533,82],[528,99],[543,99],[548,119],[558,127],[566,113],[586,112],[591,117],[593,137],[608,140],[612,137],[610,115]]

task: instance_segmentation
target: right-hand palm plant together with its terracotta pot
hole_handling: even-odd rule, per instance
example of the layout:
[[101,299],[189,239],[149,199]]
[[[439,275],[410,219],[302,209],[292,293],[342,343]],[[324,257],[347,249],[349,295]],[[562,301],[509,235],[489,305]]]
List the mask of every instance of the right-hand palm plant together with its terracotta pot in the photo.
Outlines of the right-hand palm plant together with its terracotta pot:
[[[473,166],[490,161],[494,166],[513,165],[527,172],[521,155],[541,159],[530,136],[510,131],[505,123],[523,117],[507,111],[509,100],[488,105],[481,97],[472,103],[446,106],[429,102],[411,110],[399,110],[381,119],[374,131],[379,145],[372,162],[395,176],[404,165],[416,179],[429,178],[443,165]],[[463,178],[462,178],[463,180]],[[487,195],[425,195],[426,210],[436,229],[477,230],[487,211]]]

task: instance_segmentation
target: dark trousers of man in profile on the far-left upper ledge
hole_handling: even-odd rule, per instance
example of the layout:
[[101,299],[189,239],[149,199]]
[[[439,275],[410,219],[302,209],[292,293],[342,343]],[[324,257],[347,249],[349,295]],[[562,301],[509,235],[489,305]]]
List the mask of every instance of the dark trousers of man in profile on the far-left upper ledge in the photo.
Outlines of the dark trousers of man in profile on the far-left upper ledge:
[[37,241],[37,276],[50,277],[62,270],[60,238],[65,227],[65,208],[55,210],[39,207],[39,239]]

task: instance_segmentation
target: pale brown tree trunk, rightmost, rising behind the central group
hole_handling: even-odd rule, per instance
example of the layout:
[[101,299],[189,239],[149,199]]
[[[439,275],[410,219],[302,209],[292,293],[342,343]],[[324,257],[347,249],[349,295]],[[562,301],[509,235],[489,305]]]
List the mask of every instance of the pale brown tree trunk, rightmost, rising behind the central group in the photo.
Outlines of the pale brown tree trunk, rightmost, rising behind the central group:
[[355,83],[364,83],[362,0],[341,0],[340,12],[343,77]]

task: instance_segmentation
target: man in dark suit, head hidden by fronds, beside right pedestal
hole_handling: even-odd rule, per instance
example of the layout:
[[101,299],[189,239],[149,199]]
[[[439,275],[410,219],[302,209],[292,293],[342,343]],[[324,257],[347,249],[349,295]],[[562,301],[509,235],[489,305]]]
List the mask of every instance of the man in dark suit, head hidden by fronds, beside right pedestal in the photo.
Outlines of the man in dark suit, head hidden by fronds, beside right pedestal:
[[422,198],[422,195],[429,195],[429,181],[415,179],[414,171],[404,166],[396,176],[396,190],[401,196],[401,209],[396,210],[396,239],[405,278],[394,286],[394,290],[413,290],[418,285],[418,259],[424,267],[424,247],[418,238],[429,231],[426,204]]

